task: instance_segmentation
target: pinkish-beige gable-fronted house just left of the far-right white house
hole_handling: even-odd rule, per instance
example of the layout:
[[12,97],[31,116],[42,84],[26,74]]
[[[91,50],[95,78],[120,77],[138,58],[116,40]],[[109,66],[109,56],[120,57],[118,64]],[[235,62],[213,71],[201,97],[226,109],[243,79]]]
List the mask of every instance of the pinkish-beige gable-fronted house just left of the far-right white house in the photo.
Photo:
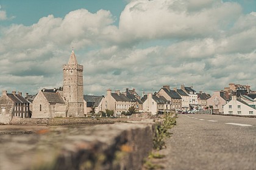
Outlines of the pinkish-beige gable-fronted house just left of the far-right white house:
[[207,99],[207,105],[213,109],[213,112],[222,114],[227,101],[229,101],[229,94],[226,91],[215,91],[212,97]]

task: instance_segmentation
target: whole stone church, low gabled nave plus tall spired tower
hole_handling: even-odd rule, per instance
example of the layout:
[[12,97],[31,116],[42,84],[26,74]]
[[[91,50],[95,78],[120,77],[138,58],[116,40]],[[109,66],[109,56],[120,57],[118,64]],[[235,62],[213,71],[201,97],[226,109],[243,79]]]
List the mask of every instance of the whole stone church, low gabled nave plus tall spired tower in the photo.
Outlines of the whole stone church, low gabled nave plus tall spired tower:
[[63,90],[41,90],[32,105],[32,118],[84,117],[83,66],[74,50],[63,64]]

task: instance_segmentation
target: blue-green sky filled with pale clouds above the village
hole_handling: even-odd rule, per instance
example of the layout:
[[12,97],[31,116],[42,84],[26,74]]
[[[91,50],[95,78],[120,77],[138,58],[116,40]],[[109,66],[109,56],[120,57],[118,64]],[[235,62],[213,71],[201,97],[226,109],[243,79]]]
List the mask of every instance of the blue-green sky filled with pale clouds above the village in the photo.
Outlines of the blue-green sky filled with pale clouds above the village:
[[62,86],[72,48],[84,94],[256,90],[256,1],[0,0],[0,90]]

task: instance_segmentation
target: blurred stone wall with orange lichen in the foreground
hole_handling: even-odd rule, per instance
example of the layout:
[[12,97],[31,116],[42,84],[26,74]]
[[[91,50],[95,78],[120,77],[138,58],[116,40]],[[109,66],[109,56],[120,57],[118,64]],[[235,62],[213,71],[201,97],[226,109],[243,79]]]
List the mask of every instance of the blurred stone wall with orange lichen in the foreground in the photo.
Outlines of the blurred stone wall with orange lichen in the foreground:
[[35,134],[4,134],[0,169],[141,169],[152,150],[153,134],[153,121],[48,126]]

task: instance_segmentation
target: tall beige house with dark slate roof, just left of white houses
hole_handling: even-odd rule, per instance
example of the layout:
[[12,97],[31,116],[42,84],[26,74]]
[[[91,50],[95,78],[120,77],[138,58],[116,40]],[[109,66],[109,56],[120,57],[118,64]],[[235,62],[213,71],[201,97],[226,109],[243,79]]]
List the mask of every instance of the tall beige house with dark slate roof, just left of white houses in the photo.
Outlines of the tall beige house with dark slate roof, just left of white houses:
[[166,100],[171,101],[171,109],[182,109],[182,97],[180,97],[176,90],[170,90],[169,86],[163,86],[157,94],[158,96],[163,96]]

